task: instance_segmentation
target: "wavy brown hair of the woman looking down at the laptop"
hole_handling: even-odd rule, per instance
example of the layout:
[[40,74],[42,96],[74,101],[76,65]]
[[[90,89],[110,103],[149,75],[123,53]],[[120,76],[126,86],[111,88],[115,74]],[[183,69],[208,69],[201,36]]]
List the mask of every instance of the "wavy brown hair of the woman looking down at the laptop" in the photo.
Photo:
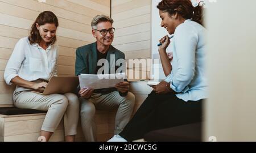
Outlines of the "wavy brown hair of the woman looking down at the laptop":
[[[53,14],[51,11],[44,11],[38,15],[38,18],[36,18],[35,22],[31,26],[30,36],[28,36],[28,40],[30,41],[30,44],[39,43],[42,40],[42,37],[40,36],[40,33],[38,29],[36,28],[36,23],[38,25],[44,25],[46,23],[54,23],[56,27],[59,26],[59,22],[57,19],[57,16]],[[50,42],[48,42],[48,45],[54,44],[56,41],[56,36],[52,38]]]

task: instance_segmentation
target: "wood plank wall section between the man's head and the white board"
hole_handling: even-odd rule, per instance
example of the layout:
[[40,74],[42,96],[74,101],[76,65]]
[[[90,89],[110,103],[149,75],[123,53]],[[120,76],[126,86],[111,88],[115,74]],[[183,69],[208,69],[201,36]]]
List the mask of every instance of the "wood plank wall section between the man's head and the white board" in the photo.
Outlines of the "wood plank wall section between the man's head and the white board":
[[[112,18],[116,29],[113,46],[124,52],[126,59],[151,58],[151,0],[112,0]],[[148,76],[150,66],[149,62],[145,67]],[[127,67],[133,73],[143,71],[143,66]],[[145,79],[142,75],[140,78]]]

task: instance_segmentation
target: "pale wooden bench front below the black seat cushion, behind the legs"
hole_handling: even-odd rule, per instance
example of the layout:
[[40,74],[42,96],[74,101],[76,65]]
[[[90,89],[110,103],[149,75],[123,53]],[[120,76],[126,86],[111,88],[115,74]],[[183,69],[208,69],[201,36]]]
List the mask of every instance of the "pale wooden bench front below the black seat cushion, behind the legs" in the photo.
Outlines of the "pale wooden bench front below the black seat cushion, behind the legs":
[[[37,141],[46,113],[2,115],[0,114],[0,141]],[[98,141],[110,137],[108,130],[108,112],[96,112]],[[63,120],[49,141],[64,141]],[[81,124],[77,128],[76,141],[84,141]]]

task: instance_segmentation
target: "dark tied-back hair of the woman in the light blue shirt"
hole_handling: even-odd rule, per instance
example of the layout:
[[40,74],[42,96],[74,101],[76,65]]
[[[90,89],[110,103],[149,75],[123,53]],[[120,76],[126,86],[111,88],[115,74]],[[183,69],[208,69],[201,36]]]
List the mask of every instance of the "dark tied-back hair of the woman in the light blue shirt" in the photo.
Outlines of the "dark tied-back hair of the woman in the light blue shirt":
[[203,6],[200,6],[200,3],[194,7],[190,0],[162,0],[156,7],[170,15],[177,12],[184,19],[192,19],[192,21],[203,25]]

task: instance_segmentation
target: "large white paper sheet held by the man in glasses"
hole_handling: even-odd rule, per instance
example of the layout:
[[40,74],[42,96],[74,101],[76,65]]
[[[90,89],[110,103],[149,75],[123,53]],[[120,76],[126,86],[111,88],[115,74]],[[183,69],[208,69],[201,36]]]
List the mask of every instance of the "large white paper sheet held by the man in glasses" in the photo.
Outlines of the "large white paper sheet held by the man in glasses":
[[79,83],[81,88],[93,89],[111,88],[125,80],[125,73],[118,74],[81,74]]

